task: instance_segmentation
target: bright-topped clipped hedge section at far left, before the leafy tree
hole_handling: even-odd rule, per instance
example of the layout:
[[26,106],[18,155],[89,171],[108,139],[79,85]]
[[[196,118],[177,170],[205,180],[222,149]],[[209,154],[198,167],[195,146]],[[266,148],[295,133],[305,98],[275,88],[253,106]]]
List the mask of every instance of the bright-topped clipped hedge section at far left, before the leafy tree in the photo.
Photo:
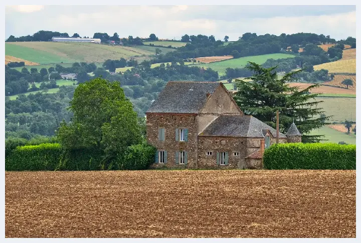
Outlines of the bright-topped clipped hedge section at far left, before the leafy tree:
[[55,170],[62,150],[60,144],[21,146],[14,149],[5,160],[8,171]]

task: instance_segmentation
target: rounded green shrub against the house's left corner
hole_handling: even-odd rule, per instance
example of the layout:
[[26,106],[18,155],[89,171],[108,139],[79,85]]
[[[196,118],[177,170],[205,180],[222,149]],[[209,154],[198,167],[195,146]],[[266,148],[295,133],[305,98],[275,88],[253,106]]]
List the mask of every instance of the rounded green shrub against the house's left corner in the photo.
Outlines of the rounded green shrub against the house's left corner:
[[129,146],[126,151],[110,164],[109,169],[144,170],[154,162],[156,149],[148,144]]

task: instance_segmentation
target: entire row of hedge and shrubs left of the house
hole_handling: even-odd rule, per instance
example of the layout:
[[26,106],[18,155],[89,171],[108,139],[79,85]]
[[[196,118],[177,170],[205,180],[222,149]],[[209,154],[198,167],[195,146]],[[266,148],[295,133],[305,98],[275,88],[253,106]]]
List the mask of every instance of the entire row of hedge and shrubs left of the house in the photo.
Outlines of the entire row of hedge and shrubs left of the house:
[[[66,151],[61,148],[60,144],[18,146],[23,142],[9,144],[8,148],[11,153],[6,154],[5,170],[144,170],[154,162],[156,151],[150,145],[138,144],[129,146],[117,158],[105,161],[104,155],[98,154],[94,150]],[[15,146],[18,147],[13,149]]]

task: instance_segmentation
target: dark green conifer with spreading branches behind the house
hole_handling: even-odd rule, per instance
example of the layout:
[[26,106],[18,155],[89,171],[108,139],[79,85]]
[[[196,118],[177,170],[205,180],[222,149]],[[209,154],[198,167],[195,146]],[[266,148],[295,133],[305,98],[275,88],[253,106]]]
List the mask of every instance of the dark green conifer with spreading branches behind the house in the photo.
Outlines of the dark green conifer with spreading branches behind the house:
[[[289,72],[279,78],[275,71],[277,67],[263,68],[253,62],[246,67],[254,74],[251,82],[236,79],[237,92],[235,100],[245,114],[253,115],[269,126],[276,128],[276,111],[279,110],[279,129],[287,132],[293,120],[303,135],[302,142],[319,142],[321,136],[307,134],[326,124],[330,116],[320,116],[324,111],[317,105],[322,101],[315,100],[318,94],[310,94],[309,90],[318,85],[311,85],[305,89],[290,87],[288,82],[302,70]],[[318,118],[316,118],[318,117]]]

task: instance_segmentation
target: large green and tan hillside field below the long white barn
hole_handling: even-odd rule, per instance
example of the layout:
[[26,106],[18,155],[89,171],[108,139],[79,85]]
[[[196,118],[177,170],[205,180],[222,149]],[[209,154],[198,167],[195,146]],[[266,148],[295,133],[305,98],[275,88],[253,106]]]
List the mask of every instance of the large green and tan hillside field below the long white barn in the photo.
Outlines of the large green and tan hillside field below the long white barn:
[[[139,47],[139,48],[138,48]],[[160,48],[163,53],[170,48]],[[155,47],[123,47],[95,43],[12,42],[5,44],[5,53],[40,64],[104,62],[107,59],[155,55]]]

